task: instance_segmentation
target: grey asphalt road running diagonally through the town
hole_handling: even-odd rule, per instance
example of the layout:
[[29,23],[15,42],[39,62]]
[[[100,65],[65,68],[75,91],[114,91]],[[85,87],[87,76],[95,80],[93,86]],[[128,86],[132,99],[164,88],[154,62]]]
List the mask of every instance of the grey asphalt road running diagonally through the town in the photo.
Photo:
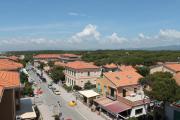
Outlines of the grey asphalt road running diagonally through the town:
[[[36,82],[41,81],[40,78],[34,73],[33,71],[29,71],[29,76]],[[47,83],[40,83],[38,84],[39,87],[41,87],[43,94],[42,94],[42,100],[43,104],[46,104],[49,106],[49,109],[52,111],[53,106],[56,105],[57,111],[60,111],[62,113],[62,117],[65,118],[71,118],[72,120],[86,120],[80,113],[74,110],[73,107],[68,106],[67,101],[65,101],[60,95],[55,95],[48,87]],[[60,102],[60,106],[58,104],[58,101]]]

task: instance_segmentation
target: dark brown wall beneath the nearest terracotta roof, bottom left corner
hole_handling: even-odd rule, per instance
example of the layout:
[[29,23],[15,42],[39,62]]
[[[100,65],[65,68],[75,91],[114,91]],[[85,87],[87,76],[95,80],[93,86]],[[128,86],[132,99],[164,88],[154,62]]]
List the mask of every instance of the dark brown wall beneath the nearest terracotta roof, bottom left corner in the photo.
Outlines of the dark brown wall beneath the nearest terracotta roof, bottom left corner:
[[12,89],[5,90],[0,102],[0,119],[15,120],[14,92]]

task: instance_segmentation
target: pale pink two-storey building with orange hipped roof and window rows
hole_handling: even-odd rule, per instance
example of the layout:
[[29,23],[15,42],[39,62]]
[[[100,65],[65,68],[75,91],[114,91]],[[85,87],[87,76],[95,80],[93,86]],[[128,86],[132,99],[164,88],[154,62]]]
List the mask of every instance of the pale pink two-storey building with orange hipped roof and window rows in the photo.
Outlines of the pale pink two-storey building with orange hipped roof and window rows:
[[101,70],[92,63],[75,61],[66,64],[64,74],[66,85],[84,87],[84,84],[88,81],[96,84],[96,79],[100,77]]

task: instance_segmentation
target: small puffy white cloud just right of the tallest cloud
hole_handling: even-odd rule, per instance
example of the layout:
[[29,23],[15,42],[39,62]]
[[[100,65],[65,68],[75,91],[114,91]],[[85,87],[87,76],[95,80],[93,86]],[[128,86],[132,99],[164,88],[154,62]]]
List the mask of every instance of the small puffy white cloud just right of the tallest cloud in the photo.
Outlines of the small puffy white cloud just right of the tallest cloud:
[[110,43],[121,44],[121,43],[126,42],[126,41],[127,41],[127,38],[125,38],[125,37],[120,37],[120,36],[118,36],[117,33],[113,33],[111,36],[108,36],[108,37],[107,37],[107,40],[108,40]]

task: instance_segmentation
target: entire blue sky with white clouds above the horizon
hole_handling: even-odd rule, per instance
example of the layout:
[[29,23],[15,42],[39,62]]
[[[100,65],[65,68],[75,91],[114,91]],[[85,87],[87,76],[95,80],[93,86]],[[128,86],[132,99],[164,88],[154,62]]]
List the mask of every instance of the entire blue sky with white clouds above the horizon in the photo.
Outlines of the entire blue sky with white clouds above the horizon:
[[180,45],[179,0],[0,0],[0,51]]

